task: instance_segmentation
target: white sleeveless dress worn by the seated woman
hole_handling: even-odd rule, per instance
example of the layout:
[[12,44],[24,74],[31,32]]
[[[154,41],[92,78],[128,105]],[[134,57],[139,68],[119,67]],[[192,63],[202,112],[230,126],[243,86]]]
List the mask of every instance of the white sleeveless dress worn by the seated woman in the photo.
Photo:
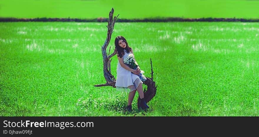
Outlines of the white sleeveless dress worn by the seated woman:
[[[123,59],[131,53],[127,53],[125,49],[124,52],[125,54]],[[140,83],[143,84],[138,75],[135,75],[131,71],[124,69],[118,61],[117,78],[115,83],[116,89],[119,91],[131,92],[136,90]]]

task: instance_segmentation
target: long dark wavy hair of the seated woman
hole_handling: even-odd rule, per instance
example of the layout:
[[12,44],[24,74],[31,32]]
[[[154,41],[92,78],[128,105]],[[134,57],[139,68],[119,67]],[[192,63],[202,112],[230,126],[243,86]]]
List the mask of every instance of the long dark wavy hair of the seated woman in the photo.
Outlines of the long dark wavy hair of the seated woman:
[[[121,40],[121,39],[124,40],[124,42],[126,43],[125,48],[122,48],[119,46],[119,40]],[[122,58],[122,56],[125,54],[124,49],[126,50],[127,53],[131,52],[131,47],[129,47],[127,40],[122,36],[117,36],[115,38],[114,44],[115,44],[115,49],[117,49],[118,57],[120,57],[120,58]]]

